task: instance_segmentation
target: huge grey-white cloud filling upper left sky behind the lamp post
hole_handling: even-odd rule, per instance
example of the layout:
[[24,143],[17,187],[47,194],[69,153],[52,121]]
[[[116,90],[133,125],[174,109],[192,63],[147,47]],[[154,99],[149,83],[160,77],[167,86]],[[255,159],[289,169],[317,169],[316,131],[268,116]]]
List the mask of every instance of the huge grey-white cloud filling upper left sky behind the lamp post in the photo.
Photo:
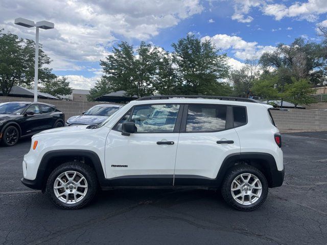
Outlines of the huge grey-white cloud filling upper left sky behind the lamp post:
[[[118,40],[146,40],[161,29],[173,27],[181,20],[203,11],[200,0],[110,0],[75,1],[42,0],[0,2],[0,27],[20,37],[34,39],[35,29],[13,24],[14,18],[49,20],[53,30],[40,30],[43,49],[54,60],[57,70],[82,67],[77,61],[98,62]],[[172,7],[173,6],[173,7]]]

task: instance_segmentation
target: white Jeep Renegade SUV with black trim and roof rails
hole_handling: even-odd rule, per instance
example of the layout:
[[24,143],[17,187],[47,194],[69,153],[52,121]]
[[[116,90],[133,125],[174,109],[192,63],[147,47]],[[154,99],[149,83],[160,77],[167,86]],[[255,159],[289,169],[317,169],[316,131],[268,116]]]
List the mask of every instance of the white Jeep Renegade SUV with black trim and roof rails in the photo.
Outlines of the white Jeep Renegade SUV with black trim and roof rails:
[[63,209],[83,207],[98,188],[193,186],[220,188],[229,205],[253,210],[284,180],[270,108],[233,97],[144,97],[99,126],[34,135],[21,181]]

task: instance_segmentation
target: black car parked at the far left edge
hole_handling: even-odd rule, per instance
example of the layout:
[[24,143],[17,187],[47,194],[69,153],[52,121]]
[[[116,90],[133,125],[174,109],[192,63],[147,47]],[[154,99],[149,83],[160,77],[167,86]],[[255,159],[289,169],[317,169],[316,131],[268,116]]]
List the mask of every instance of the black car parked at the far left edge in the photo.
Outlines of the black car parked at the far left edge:
[[0,103],[0,141],[12,146],[21,137],[64,126],[65,115],[55,106],[38,102]]

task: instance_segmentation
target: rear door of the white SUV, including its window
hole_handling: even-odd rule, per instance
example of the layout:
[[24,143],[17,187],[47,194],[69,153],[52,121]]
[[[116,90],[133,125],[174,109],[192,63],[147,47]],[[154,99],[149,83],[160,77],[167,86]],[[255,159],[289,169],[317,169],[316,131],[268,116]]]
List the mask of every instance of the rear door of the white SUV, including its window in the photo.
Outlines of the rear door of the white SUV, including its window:
[[176,154],[175,186],[216,185],[223,160],[240,153],[239,137],[227,105],[184,106]]

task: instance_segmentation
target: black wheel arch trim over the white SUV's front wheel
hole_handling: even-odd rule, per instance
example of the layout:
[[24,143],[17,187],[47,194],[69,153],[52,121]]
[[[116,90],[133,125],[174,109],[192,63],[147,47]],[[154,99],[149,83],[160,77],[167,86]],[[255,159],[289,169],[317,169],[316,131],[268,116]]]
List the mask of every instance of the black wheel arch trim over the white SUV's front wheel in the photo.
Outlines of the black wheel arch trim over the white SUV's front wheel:
[[42,157],[36,177],[38,189],[44,190],[46,179],[48,179],[52,170],[68,161],[82,161],[91,166],[96,171],[100,186],[107,185],[103,167],[97,153],[87,150],[55,150],[45,153]]

